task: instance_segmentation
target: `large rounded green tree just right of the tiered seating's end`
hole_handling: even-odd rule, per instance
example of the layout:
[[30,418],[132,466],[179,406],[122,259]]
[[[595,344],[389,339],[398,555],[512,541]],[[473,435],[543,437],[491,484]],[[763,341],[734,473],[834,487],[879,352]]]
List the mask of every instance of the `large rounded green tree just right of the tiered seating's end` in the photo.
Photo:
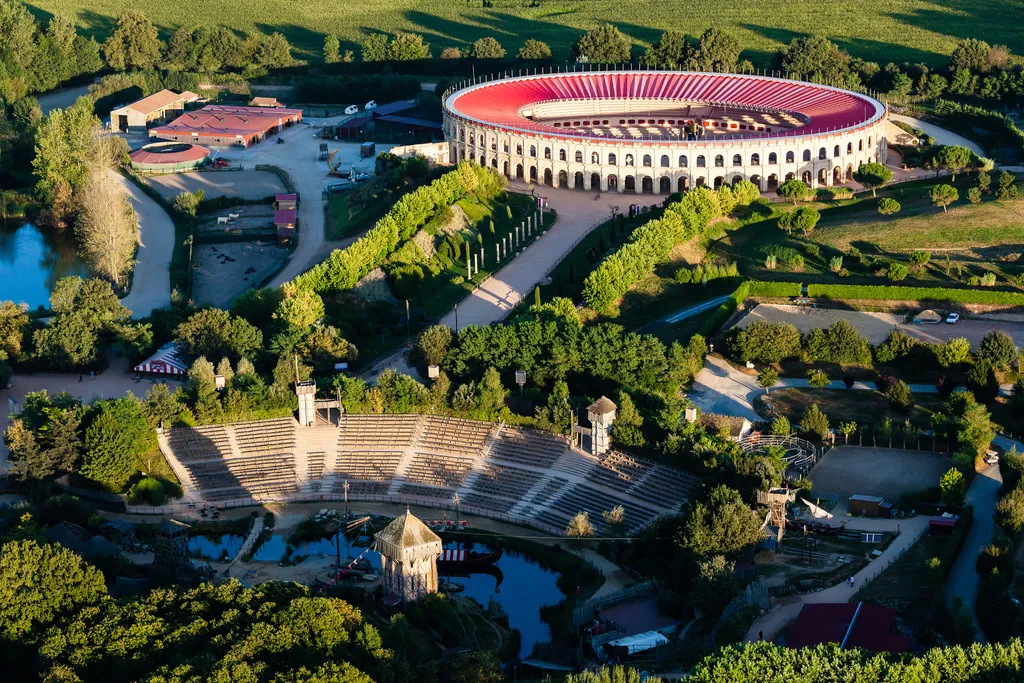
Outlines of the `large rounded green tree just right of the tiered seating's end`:
[[718,484],[706,501],[693,505],[676,543],[698,558],[728,558],[756,545],[762,537],[761,519],[743,503],[739,492]]

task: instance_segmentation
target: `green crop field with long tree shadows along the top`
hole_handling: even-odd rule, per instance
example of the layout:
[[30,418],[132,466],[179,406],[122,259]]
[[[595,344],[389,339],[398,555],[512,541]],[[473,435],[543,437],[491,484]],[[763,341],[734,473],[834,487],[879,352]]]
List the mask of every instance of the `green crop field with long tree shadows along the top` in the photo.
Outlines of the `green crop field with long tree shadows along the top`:
[[[527,38],[551,45],[557,60],[582,31],[611,23],[635,45],[655,42],[674,29],[698,35],[716,27],[734,32],[743,58],[768,66],[771,54],[795,36],[825,35],[852,54],[882,63],[944,62],[961,38],[981,38],[1024,53],[1020,23],[1024,0],[840,0],[802,4],[786,0],[377,0],[323,3],[315,0],[138,0],[164,34],[181,25],[223,25],[239,31],[280,31],[303,58],[318,58],[324,34],[355,47],[368,32],[411,31],[425,36],[436,56],[494,36],[510,55]],[[538,6],[530,7],[530,4]],[[124,0],[37,0],[37,14],[63,14],[102,39],[126,5]],[[347,45],[345,43],[348,43]],[[638,52],[639,53],[639,52]]]

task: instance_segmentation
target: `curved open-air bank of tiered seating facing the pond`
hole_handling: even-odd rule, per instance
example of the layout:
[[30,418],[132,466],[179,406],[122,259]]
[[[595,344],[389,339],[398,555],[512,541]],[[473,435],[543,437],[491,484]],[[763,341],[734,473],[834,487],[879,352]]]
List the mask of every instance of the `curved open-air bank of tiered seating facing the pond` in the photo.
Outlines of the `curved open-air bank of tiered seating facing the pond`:
[[461,511],[553,533],[587,511],[600,532],[602,513],[615,506],[638,529],[678,511],[699,485],[691,474],[618,451],[595,456],[564,437],[433,415],[178,427],[159,439],[185,502],[224,506],[337,502],[347,483],[350,501]]

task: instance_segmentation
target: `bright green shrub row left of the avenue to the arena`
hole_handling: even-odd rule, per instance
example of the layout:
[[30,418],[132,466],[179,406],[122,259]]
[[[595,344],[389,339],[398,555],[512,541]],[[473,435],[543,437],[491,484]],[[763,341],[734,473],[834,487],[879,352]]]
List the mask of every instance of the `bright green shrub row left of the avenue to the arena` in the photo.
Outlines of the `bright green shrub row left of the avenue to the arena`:
[[429,185],[424,185],[395,202],[377,224],[345,249],[331,256],[293,283],[317,294],[351,289],[365,274],[381,265],[399,244],[412,238],[438,210],[451,206],[468,193],[481,199],[500,194],[506,184],[494,170],[463,162]]

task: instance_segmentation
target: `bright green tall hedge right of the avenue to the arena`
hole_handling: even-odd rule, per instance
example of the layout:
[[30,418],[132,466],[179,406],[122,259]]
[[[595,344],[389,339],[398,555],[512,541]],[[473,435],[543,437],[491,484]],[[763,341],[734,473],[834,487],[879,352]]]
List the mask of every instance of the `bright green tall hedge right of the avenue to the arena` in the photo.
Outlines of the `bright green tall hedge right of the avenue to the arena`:
[[635,283],[654,271],[677,244],[701,233],[721,215],[715,193],[695,187],[670,205],[660,218],[633,231],[622,249],[606,257],[584,281],[583,298],[595,310],[606,310]]

